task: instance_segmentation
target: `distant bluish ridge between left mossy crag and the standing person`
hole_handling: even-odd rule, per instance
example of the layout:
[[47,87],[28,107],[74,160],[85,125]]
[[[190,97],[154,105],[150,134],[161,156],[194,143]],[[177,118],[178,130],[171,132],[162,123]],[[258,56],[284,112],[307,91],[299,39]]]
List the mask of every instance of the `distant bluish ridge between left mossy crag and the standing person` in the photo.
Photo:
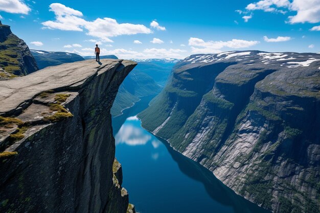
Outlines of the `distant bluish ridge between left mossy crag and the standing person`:
[[54,52],[43,50],[30,50],[33,57],[37,61],[39,69],[47,66],[56,66],[63,63],[71,63],[76,61],[83,61],[84,59],[75,53]]

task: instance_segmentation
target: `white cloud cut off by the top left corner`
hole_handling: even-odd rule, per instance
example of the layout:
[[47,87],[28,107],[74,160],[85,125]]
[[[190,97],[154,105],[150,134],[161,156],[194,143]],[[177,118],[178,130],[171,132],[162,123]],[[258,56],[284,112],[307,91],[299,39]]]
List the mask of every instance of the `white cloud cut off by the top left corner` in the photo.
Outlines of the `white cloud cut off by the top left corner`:
[[0,11],[28,14],[31,9],[21,0],[0,0]]

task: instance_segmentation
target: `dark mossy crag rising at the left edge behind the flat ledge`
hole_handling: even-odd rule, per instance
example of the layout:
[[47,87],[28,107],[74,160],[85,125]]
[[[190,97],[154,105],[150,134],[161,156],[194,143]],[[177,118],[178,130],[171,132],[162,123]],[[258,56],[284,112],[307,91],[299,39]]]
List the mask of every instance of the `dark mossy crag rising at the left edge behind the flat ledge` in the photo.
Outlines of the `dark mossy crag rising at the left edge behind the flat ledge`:
[[1,21],[0,67],[5,71],[0,72],[0,80],[28,75],[38,70],[27,44],[11,32],[10,26],[3,25]]

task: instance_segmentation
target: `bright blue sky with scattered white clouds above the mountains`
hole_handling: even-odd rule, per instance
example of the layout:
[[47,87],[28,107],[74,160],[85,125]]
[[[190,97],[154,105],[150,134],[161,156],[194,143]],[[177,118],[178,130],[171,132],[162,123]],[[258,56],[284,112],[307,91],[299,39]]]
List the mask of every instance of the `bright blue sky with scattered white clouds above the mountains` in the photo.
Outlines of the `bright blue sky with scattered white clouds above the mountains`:
[[80,55],[320,52],[320,0],[0,0],[0,19],[30,49]]

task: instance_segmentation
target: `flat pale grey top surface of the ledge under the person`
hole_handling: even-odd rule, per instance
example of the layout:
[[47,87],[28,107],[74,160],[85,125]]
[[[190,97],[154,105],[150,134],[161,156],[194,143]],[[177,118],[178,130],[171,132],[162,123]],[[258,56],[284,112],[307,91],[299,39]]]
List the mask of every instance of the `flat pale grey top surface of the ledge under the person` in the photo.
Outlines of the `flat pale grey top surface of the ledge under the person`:
[[51,66],[21,78],[0,81],[0,114],[14,114],[24,108],[39,93],[47,90],[63,90],[82,87],[93,77],[119,66],[134,65],[123,60],[94,60]]

